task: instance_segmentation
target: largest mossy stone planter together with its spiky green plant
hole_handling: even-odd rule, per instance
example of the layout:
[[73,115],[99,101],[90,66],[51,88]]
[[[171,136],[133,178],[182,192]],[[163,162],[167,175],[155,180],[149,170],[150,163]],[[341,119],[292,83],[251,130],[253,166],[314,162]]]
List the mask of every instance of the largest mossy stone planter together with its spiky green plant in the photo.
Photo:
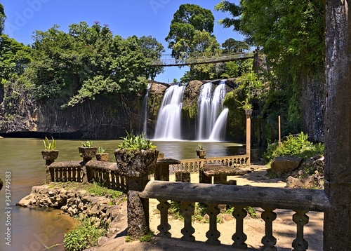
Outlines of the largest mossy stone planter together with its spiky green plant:
[[117,165],[121,173],[128,177],[143,177],[154,172],[159,150],[145,139],[145,134],[127,133],[121,137],[123,141],[114,151]]

